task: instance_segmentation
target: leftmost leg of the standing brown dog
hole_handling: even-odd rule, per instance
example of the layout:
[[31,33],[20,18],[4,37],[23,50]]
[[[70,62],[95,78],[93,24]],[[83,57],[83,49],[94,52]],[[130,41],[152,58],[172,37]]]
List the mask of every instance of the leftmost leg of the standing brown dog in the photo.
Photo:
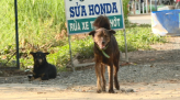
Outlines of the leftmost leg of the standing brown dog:
[[102,88],[101,88],[101,64],[100,63],[97,63],[95,64],[95,74],[97,74],[97,92],[100,93],[102,91]]

